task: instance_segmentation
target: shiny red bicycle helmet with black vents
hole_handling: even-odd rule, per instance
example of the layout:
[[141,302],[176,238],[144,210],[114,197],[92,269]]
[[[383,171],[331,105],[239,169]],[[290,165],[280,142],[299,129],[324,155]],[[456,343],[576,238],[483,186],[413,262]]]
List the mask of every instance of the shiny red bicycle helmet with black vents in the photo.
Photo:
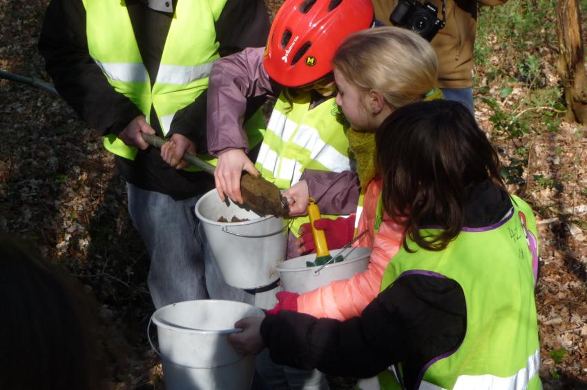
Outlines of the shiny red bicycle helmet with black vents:
[[263,65],[271,79],[301,87],[332,71],[340,43],[372,25],[370,0],[285,0],[269,32]]

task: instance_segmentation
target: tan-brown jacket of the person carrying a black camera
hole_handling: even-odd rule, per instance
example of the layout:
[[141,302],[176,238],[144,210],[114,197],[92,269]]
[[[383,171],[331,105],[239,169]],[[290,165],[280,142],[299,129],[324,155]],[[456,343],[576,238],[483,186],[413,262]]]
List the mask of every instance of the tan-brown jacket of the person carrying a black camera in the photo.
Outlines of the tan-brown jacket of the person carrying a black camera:
[[[442,19],[442,1],[427,0],[439,9]],[[432,47],[439,58],[440,88],[471,88],[473,86],[473,45],[477,29],[477,3],[499,6],[508,0],[446,0],[446,25],[432,39]],[[389,15],[397,0],[372,0],[375,17],[389,25]]]

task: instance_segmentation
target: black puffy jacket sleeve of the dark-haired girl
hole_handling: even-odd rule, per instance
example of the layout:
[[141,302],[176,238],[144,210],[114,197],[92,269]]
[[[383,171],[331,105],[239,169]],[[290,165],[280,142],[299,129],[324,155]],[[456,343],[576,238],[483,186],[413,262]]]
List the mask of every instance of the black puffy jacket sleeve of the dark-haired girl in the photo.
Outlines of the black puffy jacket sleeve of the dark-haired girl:
[[427,360],[461,343],[465,327],[461,286],[413,274],[396,280],[360,317],[340,322],[280,311],[263,320],[261,336],[271,359],[280,364],[368,378],[389,365],[410,362],[405,367],[414,373],[405,376],[413,382]]

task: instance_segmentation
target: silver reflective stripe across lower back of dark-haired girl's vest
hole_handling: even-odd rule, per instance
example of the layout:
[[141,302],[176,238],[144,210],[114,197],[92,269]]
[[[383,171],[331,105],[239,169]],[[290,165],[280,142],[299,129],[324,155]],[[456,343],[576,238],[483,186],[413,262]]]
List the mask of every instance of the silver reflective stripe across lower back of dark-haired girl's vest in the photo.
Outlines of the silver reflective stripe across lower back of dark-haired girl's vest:
[[[528,387],[528,382],[538,374],[540,367],[540,349],[537,349],[526,362],[526,367],[519,369],[517,373],[507,378],[492,375],[463,375],[459,376],[454,384],[454,390],[465,389],[503,389],[503,390],[522,390]],[[426,389],[420,387],[420,389]]]

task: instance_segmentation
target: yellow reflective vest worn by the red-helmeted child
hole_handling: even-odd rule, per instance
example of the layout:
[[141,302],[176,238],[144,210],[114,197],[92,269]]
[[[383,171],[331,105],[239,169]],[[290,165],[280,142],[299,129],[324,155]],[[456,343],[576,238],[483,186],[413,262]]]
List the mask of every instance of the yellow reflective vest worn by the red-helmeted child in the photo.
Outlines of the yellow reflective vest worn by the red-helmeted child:
[[[334,96],[311,110],[310,92],[300,91],[290,99],[282,92],[273,108],[255,163],[261,176],[287,189],[298,183],[306,169],[350,170],[347,127],[339,121]],[[307,217],[294,218],[290,232],[298,236],[298,229],[307,222]]]

